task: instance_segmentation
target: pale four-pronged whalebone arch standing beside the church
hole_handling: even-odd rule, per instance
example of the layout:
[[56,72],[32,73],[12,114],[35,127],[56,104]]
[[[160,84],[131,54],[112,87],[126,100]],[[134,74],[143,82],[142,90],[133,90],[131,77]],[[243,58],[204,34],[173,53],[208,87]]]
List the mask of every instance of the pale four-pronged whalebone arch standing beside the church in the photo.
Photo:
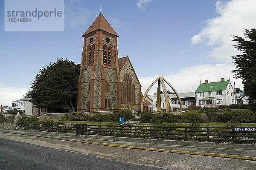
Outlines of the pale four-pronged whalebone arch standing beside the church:
[[[164,83],[164,82],[166,82],[172,88],[172,90],[174,91],[175,95],[177,96],[178,101],[180,102],[180,115],[182,115],[182,105],[181,105],[182,102],[181,102],[180,96],[178,95],[178,93],[175,90],[175,88],[169,82],[167,82],[166,79],[164,79],[163,77],[158,77],[156,80],[154,80],[154,82],[152,82],[151,85],[146,90],[146,92],[145,92],[145,94],[143,96],[143,99],[141,101],[141,111],[144,110],[144,101],[145,101],[145,98],[146,98],[146,96],[148,94],[148,91],[152,88],[152,86],[157,81],[158,81],[158,85],[157,85],[157,103],[161,103],[160,84],[162,84],[164,99],[165,99],[165,102],[166,102],[166,112],[169,113],[172,110],[172,106],[170,105],[169,96],[168,96],[168,93],[167,93],[167,90],[166,90],[166,86],[165,86],[165,83]],[[157,105],[157,111],[162,111],[161,104]]]

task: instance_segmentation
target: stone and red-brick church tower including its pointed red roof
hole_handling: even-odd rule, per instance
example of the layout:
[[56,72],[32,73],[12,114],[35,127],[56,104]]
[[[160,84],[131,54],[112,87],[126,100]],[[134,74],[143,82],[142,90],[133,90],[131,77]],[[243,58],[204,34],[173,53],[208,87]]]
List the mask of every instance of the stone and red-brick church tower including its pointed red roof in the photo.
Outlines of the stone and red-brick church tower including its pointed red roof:
[[120,110],[118,34],[100,13],[82,37],[78,112]]

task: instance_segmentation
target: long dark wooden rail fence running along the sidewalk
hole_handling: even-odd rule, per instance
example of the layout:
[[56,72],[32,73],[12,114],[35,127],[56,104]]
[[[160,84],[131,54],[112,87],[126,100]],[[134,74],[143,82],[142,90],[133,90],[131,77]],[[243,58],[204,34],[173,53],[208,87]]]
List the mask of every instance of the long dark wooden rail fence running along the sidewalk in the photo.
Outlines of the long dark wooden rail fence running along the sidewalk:
[[[17,124],[28,130],[42,130],[80,135],[122,136],[145,139],[165,139],[198,142],[256,143],[255,128],[241,131],[232,127],[193,126],[118,126],[118,125],[63,125],[63,124]],[[245,129],[245,128],[244,128]],[[239,131],[240,130],[240,131]]]

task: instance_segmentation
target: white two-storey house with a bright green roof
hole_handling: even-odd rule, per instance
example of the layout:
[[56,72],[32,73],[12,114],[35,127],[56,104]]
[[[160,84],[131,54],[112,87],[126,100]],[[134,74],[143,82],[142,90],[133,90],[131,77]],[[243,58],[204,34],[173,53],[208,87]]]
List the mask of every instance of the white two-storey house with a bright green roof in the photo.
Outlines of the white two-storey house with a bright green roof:
[[234,89],[229,80],[221,78],[220,82],[208,82],[200,84],[195,91],[197,106],[231,105],[235,103]]

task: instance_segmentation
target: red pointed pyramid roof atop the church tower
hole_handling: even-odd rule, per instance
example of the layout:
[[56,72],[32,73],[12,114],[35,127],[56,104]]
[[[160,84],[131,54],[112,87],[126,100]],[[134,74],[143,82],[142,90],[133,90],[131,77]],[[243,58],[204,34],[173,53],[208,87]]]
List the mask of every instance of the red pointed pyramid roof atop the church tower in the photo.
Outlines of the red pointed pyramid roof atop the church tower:
[[111,33],[113,35],[116,35],[119,37],[118,34],[116,34],[116,32],[113,30],[113,28],[111,27],[111,25],[108,23],[108,21],[106,20],[106,18],[102,15],[102,13],[99,14],[99,16],[94,20],[94,22],[92,23],[92,25],[87,29],[87,31],[85,31],[85,33],[82,35],[82,37],[86,34],[89,34],[93,31],[96,30],[103,30],[106,31],[108,33]]

